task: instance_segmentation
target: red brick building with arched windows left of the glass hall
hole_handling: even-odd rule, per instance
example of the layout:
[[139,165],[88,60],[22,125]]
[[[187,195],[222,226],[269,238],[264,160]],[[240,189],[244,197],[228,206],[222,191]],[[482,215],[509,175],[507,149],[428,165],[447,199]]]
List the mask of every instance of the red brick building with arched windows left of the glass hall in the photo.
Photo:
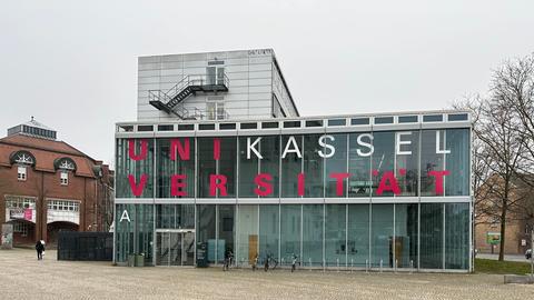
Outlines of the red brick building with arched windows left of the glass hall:
[[113,171],[56,133],[32,118],[0,139],[0,223],[13,224],[14,244],[111,226]]

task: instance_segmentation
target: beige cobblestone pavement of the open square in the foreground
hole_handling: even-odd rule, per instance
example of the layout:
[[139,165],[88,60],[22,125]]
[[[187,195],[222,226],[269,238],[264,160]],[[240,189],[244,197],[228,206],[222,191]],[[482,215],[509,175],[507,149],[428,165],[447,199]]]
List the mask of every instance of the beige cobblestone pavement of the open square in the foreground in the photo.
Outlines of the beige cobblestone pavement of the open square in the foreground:
[[0,299],[530,299],[502,276],[126,268],[0,250]]

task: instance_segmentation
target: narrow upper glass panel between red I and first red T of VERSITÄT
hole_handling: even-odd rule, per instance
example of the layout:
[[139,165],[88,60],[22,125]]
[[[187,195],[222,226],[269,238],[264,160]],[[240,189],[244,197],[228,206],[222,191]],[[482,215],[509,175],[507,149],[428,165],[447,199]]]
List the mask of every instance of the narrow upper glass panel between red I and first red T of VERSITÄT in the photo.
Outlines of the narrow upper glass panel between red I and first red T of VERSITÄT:
[[322,134],[304,136],[304,174],[305,174],[305,193],[307,198],[323,198],[323,172],[324,159],[319,156],[319,151],[325,151],[319,147],[318,139]]

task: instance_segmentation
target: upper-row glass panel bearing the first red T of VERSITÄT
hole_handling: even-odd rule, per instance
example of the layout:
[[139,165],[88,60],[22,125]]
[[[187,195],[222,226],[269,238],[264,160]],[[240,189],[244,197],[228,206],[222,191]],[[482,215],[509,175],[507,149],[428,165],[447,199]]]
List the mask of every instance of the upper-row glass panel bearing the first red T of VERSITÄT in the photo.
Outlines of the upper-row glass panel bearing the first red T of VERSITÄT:
[[[327,144],[334,147],[334,156],[325,159],[326,168],[326,197],[330,198],[345,198],[347,197],[347,181],[348,178],[343,179],[342,194],[337,193],[337,178],[334,178],[335,173],[347,173],[347,133],[330,134],[334,140],[325,139]],[[323,150],[326,154],[332,152],[330,149]]]

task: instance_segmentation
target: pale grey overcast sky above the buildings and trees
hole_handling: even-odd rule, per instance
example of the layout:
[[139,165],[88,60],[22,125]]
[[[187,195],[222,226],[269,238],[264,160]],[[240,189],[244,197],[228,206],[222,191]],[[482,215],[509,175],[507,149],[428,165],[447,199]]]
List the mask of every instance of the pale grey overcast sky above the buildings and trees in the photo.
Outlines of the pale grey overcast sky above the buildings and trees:
[[95,159],[136,120],[137,57],[273,48],[303,116],[448,108],[534,51],[534,1],[2,1],[0,130]]

